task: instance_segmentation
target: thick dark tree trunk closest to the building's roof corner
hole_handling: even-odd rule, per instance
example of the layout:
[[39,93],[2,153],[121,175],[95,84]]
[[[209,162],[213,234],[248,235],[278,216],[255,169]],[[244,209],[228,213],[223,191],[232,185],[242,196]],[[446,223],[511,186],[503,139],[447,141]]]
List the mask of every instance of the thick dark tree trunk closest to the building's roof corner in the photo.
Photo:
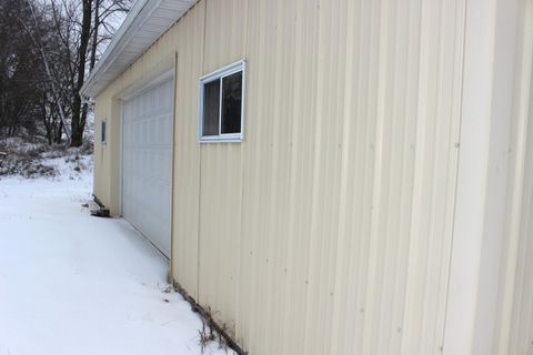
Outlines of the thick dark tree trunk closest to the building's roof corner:
[[78,80],[76,83],[72,102],[72,139],[71,146],[80,146],[83,143],[86,129],[87,105],[81,103],[80,90],[86,80],[87,50],[91,36],[92,0],[83,0],[83,14],[81,21],[80,48],[78,49]]

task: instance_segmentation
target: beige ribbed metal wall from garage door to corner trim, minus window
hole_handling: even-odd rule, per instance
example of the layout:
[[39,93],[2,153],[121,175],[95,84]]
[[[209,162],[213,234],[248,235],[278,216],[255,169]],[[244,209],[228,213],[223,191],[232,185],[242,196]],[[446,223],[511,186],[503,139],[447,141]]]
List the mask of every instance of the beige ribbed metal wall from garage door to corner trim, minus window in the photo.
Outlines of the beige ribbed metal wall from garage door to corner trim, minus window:
[[[441,353],[464,2],[202,0],[100,95],[178,52],[173,273],[251,354]],[[199,144],[242,58],[245,141]]]

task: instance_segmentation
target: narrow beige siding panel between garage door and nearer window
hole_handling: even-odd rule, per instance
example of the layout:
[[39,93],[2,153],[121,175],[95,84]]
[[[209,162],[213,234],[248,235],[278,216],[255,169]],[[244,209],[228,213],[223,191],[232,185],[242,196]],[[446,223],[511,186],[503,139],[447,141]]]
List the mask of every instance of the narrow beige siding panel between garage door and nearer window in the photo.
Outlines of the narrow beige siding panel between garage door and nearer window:
[[169,38],[168,48],[178,52],[172,264],[174,277],[198,300],[201,179],[197,118],[198,79],[203,73],[203,1],[169,31]]

